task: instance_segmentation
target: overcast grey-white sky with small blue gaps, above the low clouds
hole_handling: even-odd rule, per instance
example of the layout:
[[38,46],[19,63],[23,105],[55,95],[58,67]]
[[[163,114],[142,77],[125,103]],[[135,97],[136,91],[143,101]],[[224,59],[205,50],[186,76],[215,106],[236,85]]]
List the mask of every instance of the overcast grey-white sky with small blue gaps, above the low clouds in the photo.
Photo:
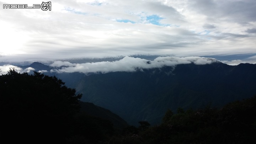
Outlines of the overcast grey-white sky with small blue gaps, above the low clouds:
[[[45,1],[47,2],[47,1]],[[256,63],[255,0],[52,0],[4,9],[0,62],[161,55]]]

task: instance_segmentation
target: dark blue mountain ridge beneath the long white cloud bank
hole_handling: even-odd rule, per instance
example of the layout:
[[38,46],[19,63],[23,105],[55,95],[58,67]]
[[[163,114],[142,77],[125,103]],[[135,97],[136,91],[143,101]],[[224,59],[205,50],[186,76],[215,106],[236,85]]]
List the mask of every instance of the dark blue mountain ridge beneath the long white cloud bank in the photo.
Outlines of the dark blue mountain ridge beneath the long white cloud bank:
[[107,108],[132,125],[138,121],[158,124],[168,108],[175,112],[178,107],[220,107],[256,94],[256,64],[248,63],[190,63],[96,75],[45,74],[56,75],[82,93],[82,101]]

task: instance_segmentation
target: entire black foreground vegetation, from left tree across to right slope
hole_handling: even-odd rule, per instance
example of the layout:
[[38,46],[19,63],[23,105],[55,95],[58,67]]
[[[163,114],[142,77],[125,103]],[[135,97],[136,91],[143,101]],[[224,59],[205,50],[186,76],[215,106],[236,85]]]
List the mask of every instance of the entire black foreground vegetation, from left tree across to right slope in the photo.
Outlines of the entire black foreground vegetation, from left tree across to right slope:
[[[167,110],[161,124],[150,126],[147,121],[140,121],[138,127],[126,126],[116,116],[111,116],[116,121],[104,119],[99,113],[93,116],[82,110],[93,108],[84,106],[81,96],[55,76],[37,72],[20,74],[14,69],[1,75],[0,143],[241,144],[256,141],[256,96],[222,108]],[[100,111],[107,113],[101,108]],[[122,124],[116,124],[120,121]]]

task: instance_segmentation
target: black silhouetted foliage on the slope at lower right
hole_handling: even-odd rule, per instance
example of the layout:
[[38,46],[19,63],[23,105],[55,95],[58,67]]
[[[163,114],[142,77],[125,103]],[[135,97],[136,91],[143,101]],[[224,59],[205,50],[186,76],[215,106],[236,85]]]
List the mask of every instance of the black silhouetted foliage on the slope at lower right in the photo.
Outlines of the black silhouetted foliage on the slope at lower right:
[[167,110],[158,126],[127,127],[112,144],[246,144],[256,141],[256,96],[224,107]]

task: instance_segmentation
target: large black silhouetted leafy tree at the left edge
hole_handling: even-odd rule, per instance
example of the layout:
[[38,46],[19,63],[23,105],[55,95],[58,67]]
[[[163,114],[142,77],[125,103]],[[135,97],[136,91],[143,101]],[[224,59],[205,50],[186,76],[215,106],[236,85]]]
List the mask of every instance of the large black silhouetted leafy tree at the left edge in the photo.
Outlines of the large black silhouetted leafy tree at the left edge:
[[81,96],[56,76],[10,69],[0,76],[1,131],[20,141],[63,139],[79,112]]

